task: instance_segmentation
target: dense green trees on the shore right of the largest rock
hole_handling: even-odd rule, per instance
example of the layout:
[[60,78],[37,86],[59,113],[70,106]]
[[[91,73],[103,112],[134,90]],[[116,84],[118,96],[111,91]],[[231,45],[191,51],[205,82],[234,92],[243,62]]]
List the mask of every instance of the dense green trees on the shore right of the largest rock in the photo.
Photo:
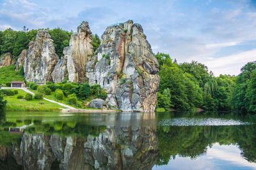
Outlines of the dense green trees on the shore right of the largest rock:
[[155,56],[161,78],[158,109],[256,112],[256,62],[246,64],[237,78],[222,74],[215,77],[199,62],[177,64],[168,54]]

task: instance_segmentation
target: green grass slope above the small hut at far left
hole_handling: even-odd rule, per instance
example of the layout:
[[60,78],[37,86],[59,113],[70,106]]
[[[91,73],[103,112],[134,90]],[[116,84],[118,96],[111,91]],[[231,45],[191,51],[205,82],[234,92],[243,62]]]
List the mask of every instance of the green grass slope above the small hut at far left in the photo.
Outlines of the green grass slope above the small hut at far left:
[[0,84],[10,83],[11,81],[24,81],[20,71],[15,71],[15,64],[0,68]]

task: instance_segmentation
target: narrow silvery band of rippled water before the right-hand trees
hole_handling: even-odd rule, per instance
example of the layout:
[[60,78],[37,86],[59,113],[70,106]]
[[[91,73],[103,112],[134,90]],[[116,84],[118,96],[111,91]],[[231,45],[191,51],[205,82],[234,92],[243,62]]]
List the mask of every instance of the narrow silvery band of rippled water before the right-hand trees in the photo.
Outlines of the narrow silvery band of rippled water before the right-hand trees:
[[170,118],[161,120],[159,125],[190,126],[190,125],[250,125],[249,122],[225,118]]

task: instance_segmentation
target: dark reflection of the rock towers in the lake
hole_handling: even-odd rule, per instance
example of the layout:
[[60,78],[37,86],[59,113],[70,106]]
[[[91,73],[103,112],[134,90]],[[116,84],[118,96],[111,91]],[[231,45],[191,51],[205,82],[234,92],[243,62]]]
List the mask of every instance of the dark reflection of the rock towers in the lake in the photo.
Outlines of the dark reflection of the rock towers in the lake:
[[157,148],[156,127],[125,126],[87,138],[25,133],[13,152],[24,169],[151,169]]

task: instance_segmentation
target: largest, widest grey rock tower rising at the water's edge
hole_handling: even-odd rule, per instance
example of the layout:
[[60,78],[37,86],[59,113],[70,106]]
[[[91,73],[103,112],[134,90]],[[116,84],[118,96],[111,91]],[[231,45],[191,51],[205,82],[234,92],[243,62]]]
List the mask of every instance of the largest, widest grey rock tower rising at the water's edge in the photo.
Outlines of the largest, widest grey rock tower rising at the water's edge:
[[90,85],[107,89],[109,108],[154,111],[160,78],[159,64],[143,29],[131,20],[108,27],[97,55],[88,59]]

